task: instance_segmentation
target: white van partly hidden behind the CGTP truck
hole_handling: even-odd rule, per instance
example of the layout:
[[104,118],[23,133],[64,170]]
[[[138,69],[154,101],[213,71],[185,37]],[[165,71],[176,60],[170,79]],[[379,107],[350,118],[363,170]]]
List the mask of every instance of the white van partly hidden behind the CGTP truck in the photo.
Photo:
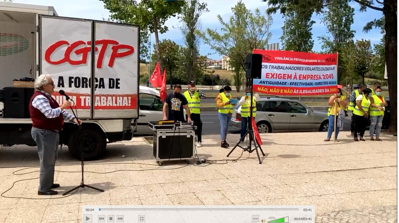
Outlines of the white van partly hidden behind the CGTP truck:
[[[163,119],[162,108],[164,107],[164,103],[160,98],[159,91],[145,86],[140,86],[140,94],[138,98],[139,117],[136,120],[137,125],[134,135],[151,135],[152,130],[148,127],[148,122]],[[133,121],[132,127],[134,127]]]

